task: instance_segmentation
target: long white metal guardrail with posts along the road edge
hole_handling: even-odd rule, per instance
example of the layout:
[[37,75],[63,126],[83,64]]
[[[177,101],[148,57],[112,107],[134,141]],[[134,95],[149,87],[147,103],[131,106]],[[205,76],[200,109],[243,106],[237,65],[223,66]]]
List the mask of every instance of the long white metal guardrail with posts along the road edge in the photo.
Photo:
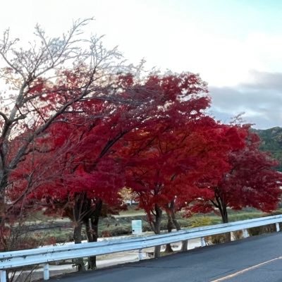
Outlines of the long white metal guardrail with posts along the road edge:
[[[44,264],[44,280],[48,280],[49,262],[56,262],[61,259],[106,255],[128,250],[142,250],[146,247],[176,243],[195,238],[203,239],[205,236],[209,235],[246,230],[247,228],[264,226],[271,223],[276,223],[276,231],[278,232],[280,231],[279,222],[282,222],[282,215],[267,216],[258,219],[223,223],[200,228],[190,228],[160,235],[140,236],[138,238],[0,252],[0,281],[6,282],[6,269],[20,266]],[[204,240],[202,240],[202,246],[204,246]]]

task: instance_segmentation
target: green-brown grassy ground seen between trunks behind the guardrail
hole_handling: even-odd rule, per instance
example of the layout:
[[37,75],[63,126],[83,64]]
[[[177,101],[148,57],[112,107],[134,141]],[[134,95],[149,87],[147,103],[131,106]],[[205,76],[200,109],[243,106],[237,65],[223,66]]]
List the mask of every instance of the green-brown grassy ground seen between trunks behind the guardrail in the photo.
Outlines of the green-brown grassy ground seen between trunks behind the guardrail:
[[[242,211],[228,211],[229,221],[241,221],[245,219],[254,219],[261,216],[269,216],[274,214],[282,214],[282,209],[278,209],[273,214],[264,214],[256,209],[243,209]],[[99,221],[99,237],[109,237],[118,235],[130,235],[132,233],[131,221],[141,219],[142,230],[151,231],[145,213],[136,209],[132,205],[127,211],[121,212],[120,216],[109,216]],[[183,218],[177,214],[178,223],[181,228],[193,228],[199,226],[207,226],[221,223],[221,217],[216,214],[195,214],[190,218]],[[56,219],[54,217],[45,216],[42,212],[37,212],[30,216],[31,226],[34,226],[35,231],[30,233],[30,240],[40,240],[43,243],[66,243],[73,238],[73,224],[69,219]],[[30,226],[29,226],[30,227]],[[167,216],[163,214],[161,221],[161,230],[166,231]],[[254,231],[256,233],[258,231]],[[85,231],[82,231],[82,238],[86,240]],[[43,240],[44,239],[44,240]],[[43,245],[43,244],[42,244]]]

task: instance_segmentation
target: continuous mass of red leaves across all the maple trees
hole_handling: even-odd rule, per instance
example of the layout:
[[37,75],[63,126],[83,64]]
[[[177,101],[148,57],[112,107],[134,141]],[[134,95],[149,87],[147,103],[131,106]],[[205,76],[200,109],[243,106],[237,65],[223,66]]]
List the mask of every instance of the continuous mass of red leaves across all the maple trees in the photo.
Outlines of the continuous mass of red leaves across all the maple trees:
[[[82,75],[83,69],[66,72],[60,85],[71,84],[73,92],[54,88],[42,102],[51,110],[73,99]],[[45,87],[40,83],[31,92]],[[152,75],[142,82],[118,75],[113,88],[73,104],[30,145],[32,153],[9,179],[13,209],[23,207],[23,200],[69,216],[84,201],[85,213],[101,201],[119,207],[118,191],[125,185],[151,221],[152,212],[167,211],[172,202],[175,212],[187,203],[193,204],[190,212],[209,212],[212,204],[274,209],[281,195],[276,163],[259,152],[257,135],[247,126],[207,116],[209,103],[198,75]]]

